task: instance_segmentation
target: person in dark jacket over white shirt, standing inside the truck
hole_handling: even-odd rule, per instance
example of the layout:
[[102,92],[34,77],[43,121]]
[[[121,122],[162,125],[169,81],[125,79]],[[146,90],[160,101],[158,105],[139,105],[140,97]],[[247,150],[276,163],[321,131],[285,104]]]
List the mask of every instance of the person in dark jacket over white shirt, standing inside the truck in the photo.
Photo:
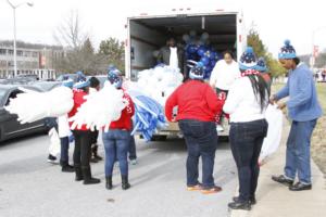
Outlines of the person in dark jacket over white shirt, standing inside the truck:
[[166,41],[166,46],[159,50],[158,62],[179,68],[180,73],[185,76],[185,53],[181,48],[177,47],[175,38],[171,37]]

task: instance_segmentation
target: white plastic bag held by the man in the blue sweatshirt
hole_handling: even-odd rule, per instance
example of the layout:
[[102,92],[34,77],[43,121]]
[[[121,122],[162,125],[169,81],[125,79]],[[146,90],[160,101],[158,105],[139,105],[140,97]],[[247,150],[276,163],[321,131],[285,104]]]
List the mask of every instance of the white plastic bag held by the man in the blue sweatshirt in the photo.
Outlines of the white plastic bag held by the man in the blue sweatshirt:
[[268,105],[266,110],[266,120],[268,123],[267,136],[264,139],[260,162],[276,152],[279,146],[283,130],[283,113],[276,105]]

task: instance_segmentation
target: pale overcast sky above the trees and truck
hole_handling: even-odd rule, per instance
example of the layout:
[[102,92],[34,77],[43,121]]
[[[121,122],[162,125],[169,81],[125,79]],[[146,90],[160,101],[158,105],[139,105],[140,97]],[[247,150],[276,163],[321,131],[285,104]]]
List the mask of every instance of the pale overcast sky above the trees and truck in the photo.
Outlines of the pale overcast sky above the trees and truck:
[[[11,0],[21,3],[24,0]],[[255,24],[261,39],[274,55],[285,39],[290,39],[297,53],[311,53],[312,38],[319,50],[326,48],[326,13],[322,0],[32,0],[33,8],[16,10],[17,39],[54,44],[53,30],[78,11],[83,28],[90,33],[97,47],[109,37],[125,39],[126,17],[140,12],[165,13],[173,8],[231,8],[243,11],[246,26]],[[114,2],[114,4],[113,4]],[[325,4],[325,3],[324,3]],[[159,11],[159,12],[158,12]],[[315,30],[318,29],[318,30]],[[313,34],[315,33],[315,34]],[[13,12],[7,0],[0,0],[0,40],[13,38]]]

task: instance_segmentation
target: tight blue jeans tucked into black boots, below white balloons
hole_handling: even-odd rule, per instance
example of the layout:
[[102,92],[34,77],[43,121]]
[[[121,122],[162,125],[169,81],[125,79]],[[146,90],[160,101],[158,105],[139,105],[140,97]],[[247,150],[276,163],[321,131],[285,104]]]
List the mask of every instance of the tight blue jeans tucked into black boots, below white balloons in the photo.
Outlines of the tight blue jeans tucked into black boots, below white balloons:
[[127,130],[110,129],[103,132],[105,150],[105,176],[112,176],[114,162],[117,158],[122,176],[128,175],[127,153],[129,149],[130,135]]

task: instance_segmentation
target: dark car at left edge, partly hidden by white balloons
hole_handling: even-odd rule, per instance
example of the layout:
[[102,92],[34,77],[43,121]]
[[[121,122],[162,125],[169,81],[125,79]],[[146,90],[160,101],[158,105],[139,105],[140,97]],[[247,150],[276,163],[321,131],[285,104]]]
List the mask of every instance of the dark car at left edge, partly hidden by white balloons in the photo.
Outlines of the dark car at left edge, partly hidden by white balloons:
[[9,104],[10,99],[16,98],[23,91],[18,87],[26,89],[43,91],[41,88],[30,85],[0,85],[0,142],[17,137],[33,135],[37,132],[46,132],[49,130],[49,118],[40,119],[34,123],[21,124],[17,122],[17,116],[10,114],[4,110]]

